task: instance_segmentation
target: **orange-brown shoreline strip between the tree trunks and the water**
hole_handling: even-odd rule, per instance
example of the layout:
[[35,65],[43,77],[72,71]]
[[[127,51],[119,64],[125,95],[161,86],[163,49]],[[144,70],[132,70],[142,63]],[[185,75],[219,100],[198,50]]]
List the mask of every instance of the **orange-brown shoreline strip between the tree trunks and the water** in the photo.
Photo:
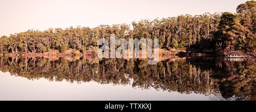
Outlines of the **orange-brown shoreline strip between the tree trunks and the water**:
[[[141,50],[139,51],[139,58],[140,60],[143,60],[145,58],[141,58]],[[46,53],[26,53],[26,54],[20,54],[20,53],[8,53],[8,54],[3,54],[0,53],[1,57],[11,57],[11,58],[47,58],[50,59],[51,61],[56,61],[60,58],[67,59],[69,61],[74,61],[80,58],[85,58],[85,59],[92,59],[95,60],[98,58],[97,56],[97,50],[87,50],[84,51],[84,53],[81,53],[79,50],[65,50],[62,53],[60,53],[57,50],[49,50]],[[127,55],[128,56],[128,55]],[[192,53],[190,51],[186,51],[184,49],[169,49],[169,50],[164,50],[164,49],[159,49],[159,59],[158,61],[163,61],[166,59],[187,59],[187,58],[193,58],[193,57],[210,57],[214,58],[214,55],[212,54],[202,54],[202,53]],[[129,58],[123,58],[129,61]]]

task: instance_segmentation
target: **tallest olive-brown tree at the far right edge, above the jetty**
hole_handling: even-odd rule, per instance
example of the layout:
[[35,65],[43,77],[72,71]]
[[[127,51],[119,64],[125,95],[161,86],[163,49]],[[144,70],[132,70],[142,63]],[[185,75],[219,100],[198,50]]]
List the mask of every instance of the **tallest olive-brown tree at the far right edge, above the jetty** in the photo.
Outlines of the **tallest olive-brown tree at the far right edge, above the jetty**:
[[232,32],[229,33],[234,40],[236,50],[256,57],[256,2],[247,1],[237,7],[236,18]]

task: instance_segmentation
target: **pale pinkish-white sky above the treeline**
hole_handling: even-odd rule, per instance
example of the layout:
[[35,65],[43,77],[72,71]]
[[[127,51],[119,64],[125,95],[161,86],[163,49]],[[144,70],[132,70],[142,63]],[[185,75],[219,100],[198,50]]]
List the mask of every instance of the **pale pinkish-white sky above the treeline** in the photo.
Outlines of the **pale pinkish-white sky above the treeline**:
[[0,0],[0,36],[48,28],[130,24],[134,20],[236,12],[247,0]]

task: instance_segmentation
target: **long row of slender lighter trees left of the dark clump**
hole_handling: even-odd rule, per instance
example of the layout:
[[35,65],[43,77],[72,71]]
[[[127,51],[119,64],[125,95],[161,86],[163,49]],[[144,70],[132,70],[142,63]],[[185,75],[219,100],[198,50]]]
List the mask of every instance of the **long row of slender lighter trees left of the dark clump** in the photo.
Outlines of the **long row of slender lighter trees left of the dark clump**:
[[[184,48],[196,44],[204,36],[205,32],[216,31],[218,14],[204,14],[198,16],[181,15],[177,18],[163,18],[133,21],[133,30],[127,24],[100,25],[96,28],[55,28],[46,31],[33,31],[16,33],[10,37],[2,37],[1,50],[20,53],[44,53],[49,50],[63,52],[68,49],[85,50],[97,49],[97,40],[106,38],[110,40],[110,34],[116,38],[159,38],[160,48]],[[204,23],[203,21],[207,21]],[[210,24],[210,25],[208,25]],[[208,27],[207,27],[208,26]],[[209,33],[208,35],[212,35]],[[199,39],[197,39],[199,38]],[[179,42],[179,43],[178,43]]]

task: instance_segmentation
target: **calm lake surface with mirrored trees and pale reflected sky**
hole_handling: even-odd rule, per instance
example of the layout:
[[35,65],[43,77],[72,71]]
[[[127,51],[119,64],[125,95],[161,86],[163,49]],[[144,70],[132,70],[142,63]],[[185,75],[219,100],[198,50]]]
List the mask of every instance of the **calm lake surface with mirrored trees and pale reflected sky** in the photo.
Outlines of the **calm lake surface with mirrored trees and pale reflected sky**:
[[0,58],[0,100],[256,100],[255,62]]

